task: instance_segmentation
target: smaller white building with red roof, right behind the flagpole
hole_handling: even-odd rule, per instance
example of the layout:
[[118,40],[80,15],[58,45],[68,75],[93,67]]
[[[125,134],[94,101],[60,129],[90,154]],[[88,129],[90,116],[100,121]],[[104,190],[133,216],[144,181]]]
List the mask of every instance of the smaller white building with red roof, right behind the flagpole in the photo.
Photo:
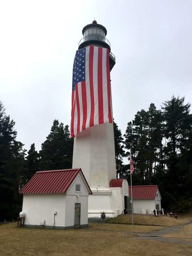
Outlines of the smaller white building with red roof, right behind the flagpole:
[[[129,186],[131,196],[131,186]],[[132,186],[133,213],[154,214],[154,210],[161,210],[161,195],[157,185]]]

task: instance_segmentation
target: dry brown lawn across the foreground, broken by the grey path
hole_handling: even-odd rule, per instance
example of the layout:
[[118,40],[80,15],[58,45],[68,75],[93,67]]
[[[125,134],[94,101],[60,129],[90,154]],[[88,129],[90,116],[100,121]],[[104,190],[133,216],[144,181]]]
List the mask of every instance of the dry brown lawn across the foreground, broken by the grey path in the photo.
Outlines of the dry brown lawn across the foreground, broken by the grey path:
[[[135,216],[134,216],[135,217]],[[143,217],[143,216],[142,216]],[[152,217],[152,216],[149,216]],[[155,216],[153,216],[156,218]],[[166,216],[164,216],[166,217]],[[122,218],[122,217],[121,217]],[[127,218],[127,217],[126,217]],[[168,218],[168,226],[171,226],[172,218]],[[136,218],[134,218],[136,221]],[[158,218],[156,218],[156,221]],[[161,219],[161,224],[165,222],[165,218]],[[138,220],[139,221],[139,220]],[[174,220],[175,221],[175,220]],[[182,220],[186,221],[186,220]],[[151,224],[152,220],[150,220]],[[177,225],[180,220],[176,221]],[[142,223],[145,224],[145,223]],[[147,226],[148,226],[147,224]],[[98,225],[98,224],[95,224]],[[0,225],[0,255],[1,256],[60,256],[60,255],[92,255],[95,256],[114,256],[114,255],[174,255],[185,256],[191,255],[191,245],[171,244],[167,242],[159,242],[147,239],[135,239],[135,236],[118,231],[123,231],[132,225],[123,224],[100,224],[98,227],[110,227],[114,231],[92,230],[93,224],[90,223],[89,229],[71,229],[71,230],[57,230],[47,228],[17,228],[17,223],[9,223]],[[134,225],[136,229],[137,225]],[[146,228],[150,226],[139,226],[135,232],[147,231]],[[144,228],[144,229],[143,229]],[[153,228],[159,228],[153,226]],[[164,228],[163,226],[161,228]],[[107,228],[106,228],[107,229]],[[122,230],[120,230],[122,229]],[[177,235],[190,235],[189,230],[191,226],[188,225],[177,231]],[[156,229],[157,230],[157,229]],[[151,231],[150,231],[151,232]]]

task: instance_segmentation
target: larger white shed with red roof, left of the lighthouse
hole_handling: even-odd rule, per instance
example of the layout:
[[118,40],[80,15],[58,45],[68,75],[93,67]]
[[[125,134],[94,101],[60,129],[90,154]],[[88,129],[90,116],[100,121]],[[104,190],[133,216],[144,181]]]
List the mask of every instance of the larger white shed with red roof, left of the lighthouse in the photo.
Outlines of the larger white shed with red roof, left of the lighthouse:
[[24,227],[88,226],[92,191],[80,168],[36,172],[19,193],[23,194]]

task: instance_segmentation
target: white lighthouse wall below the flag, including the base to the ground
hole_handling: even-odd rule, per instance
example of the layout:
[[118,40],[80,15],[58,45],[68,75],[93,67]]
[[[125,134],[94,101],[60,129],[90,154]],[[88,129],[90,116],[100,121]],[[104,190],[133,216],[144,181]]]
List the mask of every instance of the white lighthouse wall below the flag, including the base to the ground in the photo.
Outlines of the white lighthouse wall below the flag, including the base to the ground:
[[72,167],[82,169],[93,192],[89,196],[89,218],[100,218],[101,211],[106,217],[115,217],[109,188],[110,180],[116,179],[113,124],[95,125],[76,135]]

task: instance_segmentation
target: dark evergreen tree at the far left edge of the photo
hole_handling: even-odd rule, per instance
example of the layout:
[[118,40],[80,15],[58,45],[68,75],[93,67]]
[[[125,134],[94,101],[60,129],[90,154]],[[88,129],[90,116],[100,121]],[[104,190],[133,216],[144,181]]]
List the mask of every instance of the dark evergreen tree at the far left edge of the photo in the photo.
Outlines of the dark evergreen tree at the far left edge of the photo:
[[0,101],[0,222],[16,219],[21,210],[18,193],[26,150],[16,141],[14,125]]

